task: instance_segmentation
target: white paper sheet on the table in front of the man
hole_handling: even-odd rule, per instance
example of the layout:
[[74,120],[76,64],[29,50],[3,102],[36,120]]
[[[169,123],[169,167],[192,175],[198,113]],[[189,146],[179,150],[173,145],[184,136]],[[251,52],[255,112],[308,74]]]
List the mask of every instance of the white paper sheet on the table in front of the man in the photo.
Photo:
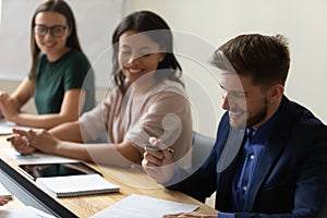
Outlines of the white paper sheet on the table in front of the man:
[[197,205],[181,204],[132,194],[129,197],[125,197],[110,207],[95,214],[92,218],[161,218],[167,214],[191,213],[197,208]]

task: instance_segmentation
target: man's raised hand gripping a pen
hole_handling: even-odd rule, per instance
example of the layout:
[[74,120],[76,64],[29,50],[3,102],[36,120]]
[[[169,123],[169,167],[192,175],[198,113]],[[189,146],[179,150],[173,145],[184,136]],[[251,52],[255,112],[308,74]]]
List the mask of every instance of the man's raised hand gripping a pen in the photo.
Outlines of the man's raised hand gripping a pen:
[[174,172],[173,152],[155,137],[150,137],[149,143],[152,148],[145,147],[142,166],[158,183],[168,182]]

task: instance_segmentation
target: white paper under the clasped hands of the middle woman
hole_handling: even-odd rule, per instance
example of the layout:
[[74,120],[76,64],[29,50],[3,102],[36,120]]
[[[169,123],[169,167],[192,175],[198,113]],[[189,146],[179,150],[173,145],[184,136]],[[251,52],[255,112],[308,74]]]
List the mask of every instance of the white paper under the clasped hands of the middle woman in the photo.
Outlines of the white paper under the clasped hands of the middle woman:
[[14,148],[3,148],[3,150],[14,159],[19,165],[35,165],[35,164],[60,164],[60,162],[80,162],[81,160],[65,158],[56,155],[44,153],[33,153],[31,155],[21,155]]

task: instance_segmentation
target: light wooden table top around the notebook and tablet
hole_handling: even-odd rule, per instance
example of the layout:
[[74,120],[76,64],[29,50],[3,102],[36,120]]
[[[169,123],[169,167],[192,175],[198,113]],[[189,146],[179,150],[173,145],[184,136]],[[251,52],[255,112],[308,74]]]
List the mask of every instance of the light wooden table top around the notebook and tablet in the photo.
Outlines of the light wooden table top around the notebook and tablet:
[[[5,141],[5,136],[0,136],[0,146],[1,148],[10,147],[10,144]],[[46,193],[34,180],[19,170],[17,162],[8,156],[3,149],[0,149],[0,158],[1,170],[8,173],[11,179],[26,190],[26,192],[29,193],[28,195],[33,195],[36,202],[39,202],[40,205],[46,207],[53,215],[60,217],[90,217],[131,194],[146,195],[186,204],[196,204],[199,205],[199,211],[216,211],[214,208],[181,192],[169,191],[162,187],[147,177],[140,166],[126,169],[89,164],[89,166],[99,170],[104,178],[109,182],[119,184],[120,192],[58,198]],[[5,206],[5,208],[19,207],[22,204],[14,198]]]

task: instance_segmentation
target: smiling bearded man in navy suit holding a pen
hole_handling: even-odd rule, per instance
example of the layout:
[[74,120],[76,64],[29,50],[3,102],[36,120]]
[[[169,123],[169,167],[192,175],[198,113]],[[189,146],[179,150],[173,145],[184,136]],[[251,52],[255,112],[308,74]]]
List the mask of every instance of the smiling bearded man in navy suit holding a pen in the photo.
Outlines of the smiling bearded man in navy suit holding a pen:
[[201,167],[174,167],[158,138],[143,167],[158,183],[199,201],[216,194],[218,213],[165,217],[327,217],[327,126],[284,96],[290,65],[281,35],[240,35],[220,46],[222,108],[217,138]]

